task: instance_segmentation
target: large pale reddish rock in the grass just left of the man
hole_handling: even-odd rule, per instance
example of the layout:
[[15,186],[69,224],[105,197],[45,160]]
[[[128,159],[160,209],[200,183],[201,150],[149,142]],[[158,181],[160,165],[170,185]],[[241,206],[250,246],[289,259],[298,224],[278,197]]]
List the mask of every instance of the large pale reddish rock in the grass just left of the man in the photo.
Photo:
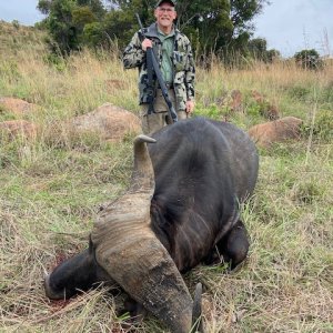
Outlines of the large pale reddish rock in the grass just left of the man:
[[98,133],[102,140],[121,141],[127,134],[142,133],[140,119],[122,108],[105,103],[70,121],[75,131]]

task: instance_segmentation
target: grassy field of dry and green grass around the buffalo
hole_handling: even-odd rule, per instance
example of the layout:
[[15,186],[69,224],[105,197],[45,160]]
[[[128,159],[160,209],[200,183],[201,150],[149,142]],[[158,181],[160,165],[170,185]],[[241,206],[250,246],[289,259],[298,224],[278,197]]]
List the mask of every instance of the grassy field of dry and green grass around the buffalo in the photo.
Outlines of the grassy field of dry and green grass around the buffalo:
[[[132,138],[107,143],[59,132],[57,123],[104,102],[138,113],[138,73],[110,51],[52,58],[39,33],[3,23],[0,30],[0,98],[37,104],[23,119],[41,129],[36,140],[0,139],[0,332],[122,332],[120,291],[50,302],[42,279],[87,246],[99,205],[125,191],[132,167]],[[199,266],[184,276],[191,292],[195,282],[204,285],[206,332],[333,332],[333,65],[228,70],[213,62],[196,78],[194,117],[248,130],[266,121],[255,90],[282,117],[304,121],[301,140],[259,149],[258,186],[242,213],[248,260],[231,273]],[[223,104],[232,90],[242,94],[238,112]],[[0,105],[0,122],[19,118]],[[135,330],[168,332],[153,317]]]

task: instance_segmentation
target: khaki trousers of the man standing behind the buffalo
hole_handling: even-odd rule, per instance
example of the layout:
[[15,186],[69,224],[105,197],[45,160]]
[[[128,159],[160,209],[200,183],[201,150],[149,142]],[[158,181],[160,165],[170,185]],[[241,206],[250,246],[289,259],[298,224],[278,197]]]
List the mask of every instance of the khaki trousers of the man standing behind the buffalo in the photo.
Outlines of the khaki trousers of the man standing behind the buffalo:
[[[168,91],[169,98],[175,108],[178,120],[188,119],[188,113],[184,110],[176,110],[175,105],[175,95],[173,89]],[[148,114],[148,104],[141,105],[141,123],[142,123],[142,131],[144,134],[152,134],[157,132],[161,128],[172,124],[172,119],[168,114],[168,104],[164,101],[162,91],[158,89],[157,98],[154,100],[154,111],[155,113]]]

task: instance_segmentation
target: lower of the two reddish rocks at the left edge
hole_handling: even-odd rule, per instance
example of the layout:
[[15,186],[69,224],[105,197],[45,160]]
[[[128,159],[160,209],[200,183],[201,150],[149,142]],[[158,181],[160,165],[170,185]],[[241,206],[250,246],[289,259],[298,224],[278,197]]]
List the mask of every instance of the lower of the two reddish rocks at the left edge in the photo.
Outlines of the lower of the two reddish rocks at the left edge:
[[18,137],[36,139],[37,132],[37,125],[26,120],[8,120],[0,122],[0,138],[4,135],[11,140]]

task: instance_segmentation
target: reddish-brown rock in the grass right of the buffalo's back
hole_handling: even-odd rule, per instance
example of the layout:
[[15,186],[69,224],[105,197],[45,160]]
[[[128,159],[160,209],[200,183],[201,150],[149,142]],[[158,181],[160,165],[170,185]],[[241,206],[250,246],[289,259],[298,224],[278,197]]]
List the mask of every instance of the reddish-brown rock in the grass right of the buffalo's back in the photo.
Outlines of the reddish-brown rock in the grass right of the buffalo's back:
[[258,145],[268,148],[274,142],[300,139],[302,122],[299,118],[284,117],[254,125],[249,130],[249,134]]

